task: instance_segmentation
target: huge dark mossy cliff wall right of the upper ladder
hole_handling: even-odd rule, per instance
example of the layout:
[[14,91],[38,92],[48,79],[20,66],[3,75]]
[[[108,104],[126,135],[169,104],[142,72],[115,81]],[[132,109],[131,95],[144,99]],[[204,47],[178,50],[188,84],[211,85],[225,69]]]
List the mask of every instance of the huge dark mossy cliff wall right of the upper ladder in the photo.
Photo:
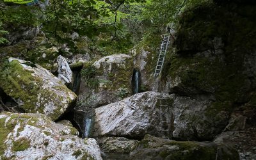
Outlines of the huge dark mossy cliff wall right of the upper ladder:
[[[256,86],[255,3],[222,1],[186,10],[163,78],[170,93],[204,95],[223,108],[253,99]],[[230,105],[227,105],[230,104]]]

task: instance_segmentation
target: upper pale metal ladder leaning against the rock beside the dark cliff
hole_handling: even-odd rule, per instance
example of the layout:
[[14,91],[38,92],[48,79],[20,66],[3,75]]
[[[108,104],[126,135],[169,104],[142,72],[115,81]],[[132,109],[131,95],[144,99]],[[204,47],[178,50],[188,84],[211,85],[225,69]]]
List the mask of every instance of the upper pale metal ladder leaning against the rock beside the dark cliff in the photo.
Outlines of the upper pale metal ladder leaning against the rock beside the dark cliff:
[[163,68],[163,64],[164,64],[164,57],[167,51],[167,47],[170,44],[170,34],[165,34],[162,44],[161,44],[161,49],[159,52],[159,56],[158,56],[158,60],[157,60],[157,65],[156,65],[156,70],[154,73],[154,77],[158,77],[159,74],[161,73],[161,70]]

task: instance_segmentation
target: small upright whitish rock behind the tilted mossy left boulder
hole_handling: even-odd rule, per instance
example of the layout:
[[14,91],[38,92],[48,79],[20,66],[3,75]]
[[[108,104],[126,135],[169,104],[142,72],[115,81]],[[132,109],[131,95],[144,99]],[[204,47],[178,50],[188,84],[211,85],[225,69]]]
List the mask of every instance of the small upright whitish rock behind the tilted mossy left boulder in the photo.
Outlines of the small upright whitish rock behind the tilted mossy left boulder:
[[58,56],[58,78],[63,84],[70,84],[72,82],[72,70],[70,69],[66,58]]

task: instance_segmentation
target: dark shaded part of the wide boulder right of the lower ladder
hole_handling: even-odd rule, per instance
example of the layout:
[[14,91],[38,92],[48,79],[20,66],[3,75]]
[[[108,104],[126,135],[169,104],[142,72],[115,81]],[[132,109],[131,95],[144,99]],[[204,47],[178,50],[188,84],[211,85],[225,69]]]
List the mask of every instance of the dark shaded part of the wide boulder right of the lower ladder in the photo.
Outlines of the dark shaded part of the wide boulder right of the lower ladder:
[[230,113],[215,108],[210,100],[173,96],[173,138],[212,140],[228,124]]

